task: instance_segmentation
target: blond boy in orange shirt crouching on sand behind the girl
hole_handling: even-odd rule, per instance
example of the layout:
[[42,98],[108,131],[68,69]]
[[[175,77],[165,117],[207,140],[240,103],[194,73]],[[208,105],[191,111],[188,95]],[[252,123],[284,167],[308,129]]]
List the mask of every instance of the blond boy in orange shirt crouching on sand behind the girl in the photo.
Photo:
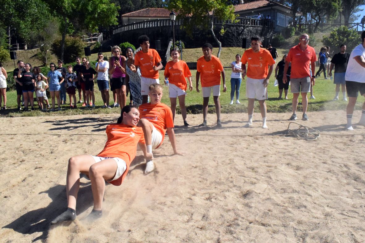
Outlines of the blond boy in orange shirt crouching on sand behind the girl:
[[[165,138],[165,133],[169,135],[170,143],[174,154],[182,155],[176,149],[176,139],[174,133],[174,121],[170,107],[161,103],[162,86],[152,84],[149,87],[151,103],[145,103],[138,107],[139,123],[145,135],[147,153],[152,153],[152,149],[161,146]],[[146,159],[145,174],[154,170],[153,160]]]

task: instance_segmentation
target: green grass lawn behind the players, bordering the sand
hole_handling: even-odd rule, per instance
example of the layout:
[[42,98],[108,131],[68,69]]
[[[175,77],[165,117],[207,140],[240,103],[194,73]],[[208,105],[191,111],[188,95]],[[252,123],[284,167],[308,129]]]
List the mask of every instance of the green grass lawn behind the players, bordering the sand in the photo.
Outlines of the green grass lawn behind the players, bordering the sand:
[[[220,96],[220,104],[222,106],[222,113],[235,113],[235,112],[247,112],[247,99],[245,97],[246,94],[246,85],[245,80],[242,81],[242,85],[240,88],[240,98],[241,104],[233,104],[230,105],[230,91],[231,91],[231,84],[230,84],[230,75],[231,70],[225,69],[226,72],[226,85],[227,85],[227,92],[221,92]],[[201,93],[197,93],[195,90],[195,74],[196,70],[192,70],[192,77],[193,77],[193,91],[187,92],[187,96],[185,99],[185,103],[187,106],[188,113],[201,113],[202,110],[202,103],[203,98]],[[270,78],[270,83],[268,86],[268,95],[269,100],[266,101],[268,112],[291,112],[291,99],[292,94],[289,91],[288,98],[290,100],[278,100],[278,88],[274,87],[274,75]],[[163,84],[163,71],[160,71],[160,83]],[[199,85],[200,86],[200,85]],[[97,85],[95,85],[95,105],[96,108],[94,109],[86,109],[84,107],[78,107],[77,109],[69,109],[69,99],[67,99],[67,104],[62,105],[62,111],[57,112],[41,112],[39,110],[36,111],[29,111],[29,112],[18,112],[17,111],[17,104],[16,104],[16,91],[11,90],[7,92],[7,108],[6,110],[1,110],[1,116],[8,116],[8,117],[15,117],[15,116],[64,116],[64,115],[78,115],[78,114],[98,114],[98,113],[120,113],[120,108],[112,108],[112,109],[102,109],[100,108],[103,105],[103,101],[101,100],[100,92],[97,90]],[[289,88],[290,89],[290,88]],[[221,88],[222,90],[222,88]],[[170,100],[168,96],[168,87],[164,85],[164,96],[162,97],[162,102],[170,105]],[[339,101],[332,101],[335,93],[335,85],[333,84],[332,80],[324,80],[323,76],[316,80],[316,84],[314,86],[314,96],[316,99],[310,99],[308,105],[308,111],[323,111],[323,110],[337,110],[337,109],[346,109],[347,102],[342,101],[342,94],[340,94]],[[110,92],[111,94],[111,92]],[[49,97],[49,100],[50,97]],[[356,109],[361,109],[362,103],[364,103],[364,97],[361,96],[358,98],[358,102],[356,104]],[[110,103],[112,104],[112,98]],[[127,98],[127,103],[129,103],[129,98]],[[38,108],[35,105],[35,108]],[[301,109],[301,97],[299,97],[299,105],[298,109]],[[177,108],[177,112],[179,112],[179,108]],[[214,102],[211,97],[209,103],[208,112],[215,113]],[[255,112],[259,111],[258,102],[255,102]]]

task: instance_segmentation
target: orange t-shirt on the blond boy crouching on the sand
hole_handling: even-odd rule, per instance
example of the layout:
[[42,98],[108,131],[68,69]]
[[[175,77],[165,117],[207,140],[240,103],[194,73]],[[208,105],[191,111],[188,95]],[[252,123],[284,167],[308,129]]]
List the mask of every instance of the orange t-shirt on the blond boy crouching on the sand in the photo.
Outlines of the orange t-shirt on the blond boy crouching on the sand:
[[165,138],[166,128],[174,127],[174,121],[172,120],[172,112],[170,107],[165,104],[151,104],[145,103],[138,107],[139,118],[147,119],[153,126],[162,134],[162,141],[158,147],[161,146]]

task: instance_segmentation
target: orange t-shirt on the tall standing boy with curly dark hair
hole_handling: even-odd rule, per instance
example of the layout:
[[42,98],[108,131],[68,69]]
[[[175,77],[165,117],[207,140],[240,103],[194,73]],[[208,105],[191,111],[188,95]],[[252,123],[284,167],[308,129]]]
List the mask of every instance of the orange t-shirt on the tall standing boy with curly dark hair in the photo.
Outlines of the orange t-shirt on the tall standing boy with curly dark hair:
[[147,53],[138,51],[134,57],[134,65],[139,66],[141,75],[145,78],[158,78],[158,71],[153,70],[153,66],[158,66],[161,57],[155,49],[148,49]]

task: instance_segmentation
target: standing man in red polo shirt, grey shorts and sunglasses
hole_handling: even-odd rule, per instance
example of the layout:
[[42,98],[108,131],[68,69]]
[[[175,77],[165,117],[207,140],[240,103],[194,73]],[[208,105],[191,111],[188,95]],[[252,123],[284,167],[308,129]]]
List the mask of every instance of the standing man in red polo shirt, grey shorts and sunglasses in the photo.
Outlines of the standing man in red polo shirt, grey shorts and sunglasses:
[[312,74],[315,73],[316,68],[316,53],[314,48],[308,45],[309,36],[307,34],[302,34],[299,37],[299,44],[292,47],[289,50],[287,60],[285,62],[283,83],[287,82],[287,71],[289,63],[292,63],[292,69],[290,74],[290,91],[293,93],[293,115],[289,120],[296,120],[296,108],[298,105],[298,97],[301,92],[302,105],[303,105],[303,115],[302,120],[307,121],[308,116],[306,114],[308,107],[308,97],[307,93],[310,92],[311,83],[312,86],[315,84],[315,76],[310,74],[309,65],[311,65]]

